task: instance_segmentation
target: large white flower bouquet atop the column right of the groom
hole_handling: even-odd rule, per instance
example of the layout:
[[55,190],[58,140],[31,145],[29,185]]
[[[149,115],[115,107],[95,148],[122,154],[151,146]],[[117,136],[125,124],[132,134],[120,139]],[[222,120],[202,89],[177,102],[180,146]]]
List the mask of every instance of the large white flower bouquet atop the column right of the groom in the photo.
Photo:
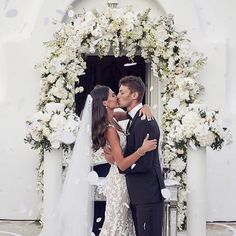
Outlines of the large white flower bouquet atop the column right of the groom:
[[[185,140],[184,145],[187,144],[195,150],[197,147],[207,146],[215,150],[231,142],[229,130],[221,124],[219,111],[209,110],[204,104],[191,104],[179,113],[182,113],[178,114],[181,118],[172,123],[168,135],[169,144],[174,147]],[[180,148],[175,148],[174,151],[176,156],[183,154]]]

